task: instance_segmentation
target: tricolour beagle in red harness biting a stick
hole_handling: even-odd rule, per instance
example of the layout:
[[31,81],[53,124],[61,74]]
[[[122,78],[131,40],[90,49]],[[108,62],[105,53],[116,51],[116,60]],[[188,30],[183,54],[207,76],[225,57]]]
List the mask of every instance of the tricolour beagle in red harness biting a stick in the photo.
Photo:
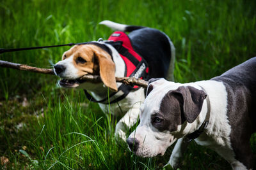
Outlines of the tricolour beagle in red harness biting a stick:
[[[116,83],[115,76],[173,80],[175,48],[170,38],[157,29],[108,20],[100,24],[117,32],[107,41],[72,46],[54,65],[54,73],[60,76],[61,87],[84,89],[88,99],[98,102],[105,113],[110,110],[111,114],[121,116],[116,124],[115,136],[125,140],[127,130],[138,120],[145,90]],[[129,35],[124,31],[130,32]],[[120,36],[125,39],[124,42],[119,41]],[[100,75],[103,83],[80,80],[84,74]]]

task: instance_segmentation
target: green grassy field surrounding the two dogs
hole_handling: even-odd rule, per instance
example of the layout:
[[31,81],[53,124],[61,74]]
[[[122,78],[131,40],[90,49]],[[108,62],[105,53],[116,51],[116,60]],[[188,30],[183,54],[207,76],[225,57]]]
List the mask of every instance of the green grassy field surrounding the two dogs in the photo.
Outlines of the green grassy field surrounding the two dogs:
[[[108,39],[102,20],[145,25],[170,36],[175,81],[207,80],[256,56],[256,1],[0,0],[0,48]],[[68,47],[0,54],[0,60],[51,68]],[[113,138],[118,118],[89,103],[58,77],[0,68],[3,169],[163,169]],[[256,155],[256,136],[251,139]],[[3,161],[1,161],[3,162]],[[170,166],[164,169],[171,169]],[[191,143],[181,169],[231,169],[217,153]]]

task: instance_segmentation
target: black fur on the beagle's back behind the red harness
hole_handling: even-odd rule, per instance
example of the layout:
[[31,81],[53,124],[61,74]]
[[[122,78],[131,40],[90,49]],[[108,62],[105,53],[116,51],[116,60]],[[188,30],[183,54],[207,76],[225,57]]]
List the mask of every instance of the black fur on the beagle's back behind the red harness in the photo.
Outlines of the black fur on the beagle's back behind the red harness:
[[128,36],[134,50],[147,61],[149,78],[166,78],[172,55],[166,35],[157,29],[145,27],[132,31]]

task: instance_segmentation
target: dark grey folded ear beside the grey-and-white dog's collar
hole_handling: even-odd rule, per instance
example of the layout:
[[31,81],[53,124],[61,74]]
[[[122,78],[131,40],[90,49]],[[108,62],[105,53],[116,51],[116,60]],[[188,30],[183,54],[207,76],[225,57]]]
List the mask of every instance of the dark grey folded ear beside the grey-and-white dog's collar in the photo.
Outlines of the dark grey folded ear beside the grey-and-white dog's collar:
[[191,86],[181,86],[177,90],[171,92],[180,102],[181,114],[189,124],[194,122],[202,110],[204,99],[207,94],[204,90],[198,90]]

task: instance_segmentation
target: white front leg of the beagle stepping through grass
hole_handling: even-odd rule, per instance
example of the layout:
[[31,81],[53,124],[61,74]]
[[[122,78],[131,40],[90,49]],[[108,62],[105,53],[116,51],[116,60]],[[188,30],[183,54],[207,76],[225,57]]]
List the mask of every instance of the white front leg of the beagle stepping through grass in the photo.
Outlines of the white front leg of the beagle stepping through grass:
[[116,124],[115,137],[126,141],[126,134],[136,124],[140,115],[140,103],[134,104],[130,110]]

